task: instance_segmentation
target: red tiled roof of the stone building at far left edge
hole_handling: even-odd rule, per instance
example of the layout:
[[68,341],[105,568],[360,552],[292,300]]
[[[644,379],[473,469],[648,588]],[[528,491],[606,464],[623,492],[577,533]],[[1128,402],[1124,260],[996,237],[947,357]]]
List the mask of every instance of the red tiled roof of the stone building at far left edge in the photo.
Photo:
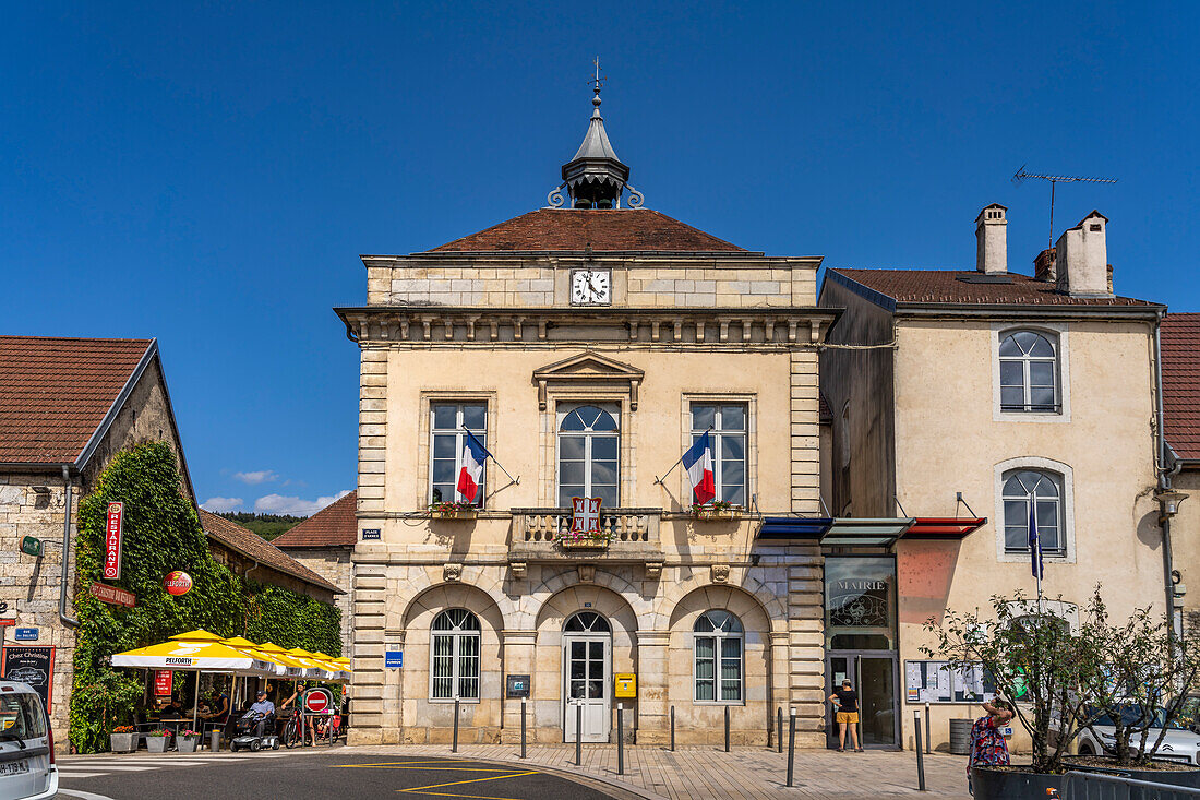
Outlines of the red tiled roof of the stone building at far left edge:
[[151,344],[0,336],[0,462],[74,462]]

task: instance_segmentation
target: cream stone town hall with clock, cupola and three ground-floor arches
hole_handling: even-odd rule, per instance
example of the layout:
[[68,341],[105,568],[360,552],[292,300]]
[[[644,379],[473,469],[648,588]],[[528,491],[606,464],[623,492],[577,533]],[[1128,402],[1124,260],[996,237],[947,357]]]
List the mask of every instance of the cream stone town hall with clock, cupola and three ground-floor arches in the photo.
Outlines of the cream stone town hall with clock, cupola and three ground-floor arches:
[[[352,742],[449,741],[456,698],[463,741],[514,741],[523,695],[535,741],[610,741],[618,704],[638,744],[672,709],[680,744],[726,711],[774,741],[788,708],[824,741],[821,550],[763,525],[821,515],[820,258],[641,208],[593,102],[550,208],[364,256],[366,305],[337,309],[361,358]],[[719,512],[672,466],[706,432]],[[572,497],[600,537],[564,539]]]

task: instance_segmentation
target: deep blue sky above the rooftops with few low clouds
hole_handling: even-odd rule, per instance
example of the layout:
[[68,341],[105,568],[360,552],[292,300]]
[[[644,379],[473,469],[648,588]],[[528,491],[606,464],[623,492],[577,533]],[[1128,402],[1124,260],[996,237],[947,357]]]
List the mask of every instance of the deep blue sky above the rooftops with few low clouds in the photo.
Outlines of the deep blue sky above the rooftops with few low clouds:
[[[1118,293],[1200,309],[1194,4],[7,4],[0,332],[157,336],[200,500],[355,479],[358,253],[545,204],[605,119],[647,207],[772,255],[965,267],[1111,220]],[[1188,55],[1192,53],[1192,55]],[[236,502],[233,502],[236,500]]]

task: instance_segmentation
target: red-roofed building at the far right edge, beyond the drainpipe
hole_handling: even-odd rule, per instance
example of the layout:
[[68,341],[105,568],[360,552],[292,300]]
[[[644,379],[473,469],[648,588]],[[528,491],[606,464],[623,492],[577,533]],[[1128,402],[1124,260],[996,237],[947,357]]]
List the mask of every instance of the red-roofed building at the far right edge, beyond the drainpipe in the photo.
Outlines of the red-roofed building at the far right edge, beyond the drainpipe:
[[1170,521],[1170,597],[1177,628],[1200,635],[1200,314],[1166,315],[1162,352],[1164,461],[1170,489],[1186,495]]

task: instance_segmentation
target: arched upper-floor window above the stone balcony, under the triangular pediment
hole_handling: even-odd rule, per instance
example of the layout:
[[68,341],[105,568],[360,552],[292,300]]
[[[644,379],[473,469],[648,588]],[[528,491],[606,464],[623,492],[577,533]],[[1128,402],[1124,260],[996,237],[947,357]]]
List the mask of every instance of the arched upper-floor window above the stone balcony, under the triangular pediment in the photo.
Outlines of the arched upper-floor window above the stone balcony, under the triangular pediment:
[[558,506],[571,497],[600,497],[605,508],[619,503],[620,429],[617,410],[568,406],[558,422]]

